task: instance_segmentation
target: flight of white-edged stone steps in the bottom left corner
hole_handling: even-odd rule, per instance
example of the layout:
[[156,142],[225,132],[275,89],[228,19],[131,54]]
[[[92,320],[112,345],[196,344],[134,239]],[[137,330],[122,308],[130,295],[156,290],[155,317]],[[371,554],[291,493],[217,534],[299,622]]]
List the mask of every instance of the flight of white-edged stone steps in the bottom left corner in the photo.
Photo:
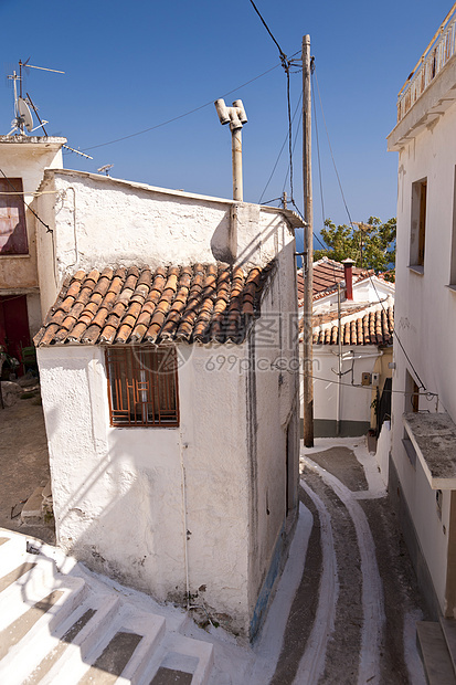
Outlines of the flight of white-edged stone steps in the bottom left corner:
[[188,621],[56,548],[0,530],[0,683],[208,685],[214,647],[182,634]]

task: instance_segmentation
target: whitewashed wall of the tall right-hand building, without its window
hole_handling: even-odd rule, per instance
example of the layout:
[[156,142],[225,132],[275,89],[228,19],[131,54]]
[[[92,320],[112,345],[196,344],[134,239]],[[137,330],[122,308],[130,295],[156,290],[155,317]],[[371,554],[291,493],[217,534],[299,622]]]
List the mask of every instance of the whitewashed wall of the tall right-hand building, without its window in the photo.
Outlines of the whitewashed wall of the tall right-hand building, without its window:
[[[445,72],[446,82],[456,81],[455,70]],[[444,81],[438,77],[433,88]],[[449,83],[449,82],[448,82]],[[424,98],[423,98],[424,102]],[[427,102],[427,101],[426,101]],[[438,405],[421,400],[420,409],[434,412],[444,409],[456,420],[456,292],[448,288],[452,238],[454,232],[454,198],[456,151],[456,107],[450,106],[442,116],[434,117],[421,133],[409,134],[407,139],[397,143],[401,130],[405,130],[414,110],[390,135],[390,149],[401,147],[397,178],[397,267],[395,298],[395,329],[412,365],[417,370],[426,389],[438,393]],[[422,112],[425,116],[425,112]],[[413,118],[413,117],[412,117]],[[412,183],[427,178],[427,211],[424,273],[409,268]],[[413,373],[401,347],[395,346],[396,370],[393,375],[393,447],[395,470],[401,481],[406,506],[414,524],[421,552],[423,554],[441,609],[445,610],[445,578],[448,539],[445,529],[449,523],[449,493],[444,492],[442,520],[437,516],[435,491],[432,491],[424,473],[416,464],[414,468],[402,445],[404,426],[402,413],[411,411],[410,404],[400,391],[405,390],[406,370]]]

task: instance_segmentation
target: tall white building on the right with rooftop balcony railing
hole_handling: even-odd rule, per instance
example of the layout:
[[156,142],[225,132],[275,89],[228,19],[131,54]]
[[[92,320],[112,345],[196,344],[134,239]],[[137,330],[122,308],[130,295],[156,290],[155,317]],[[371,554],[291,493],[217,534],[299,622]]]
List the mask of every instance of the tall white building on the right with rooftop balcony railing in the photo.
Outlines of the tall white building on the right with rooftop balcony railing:
[[397,102],[390,495],[435,613],[456,616],[455,14]]

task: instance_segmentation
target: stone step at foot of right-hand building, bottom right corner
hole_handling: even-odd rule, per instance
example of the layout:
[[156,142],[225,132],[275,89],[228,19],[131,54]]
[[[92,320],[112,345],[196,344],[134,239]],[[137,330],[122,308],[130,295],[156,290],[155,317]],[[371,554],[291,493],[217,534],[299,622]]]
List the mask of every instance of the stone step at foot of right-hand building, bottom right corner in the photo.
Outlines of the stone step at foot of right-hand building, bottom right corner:
[[433,621],[418,621],[416,639],[428,685],[456,685],[452,658],[441,625]]

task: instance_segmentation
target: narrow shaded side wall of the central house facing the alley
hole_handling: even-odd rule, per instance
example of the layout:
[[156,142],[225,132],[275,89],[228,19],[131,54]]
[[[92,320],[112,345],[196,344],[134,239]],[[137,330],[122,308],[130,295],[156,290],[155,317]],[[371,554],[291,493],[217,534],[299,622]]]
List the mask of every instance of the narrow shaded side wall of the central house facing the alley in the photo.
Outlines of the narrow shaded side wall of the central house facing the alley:
[[[280,261],[262,301],[262,317],[247,342],[245,382],[247,444],[254,489],[250,527],[250,611],[264,618],[275,573],[285,560],[287,534],[297,516],[299,350],[295,247],[286,226]],[[253,373],[255,371],[255,373]],[[288,425],[290,429],[288,430]],[[287,470],[288,450],[293,454]],[[288,509],[287,509],[288,492]]]

